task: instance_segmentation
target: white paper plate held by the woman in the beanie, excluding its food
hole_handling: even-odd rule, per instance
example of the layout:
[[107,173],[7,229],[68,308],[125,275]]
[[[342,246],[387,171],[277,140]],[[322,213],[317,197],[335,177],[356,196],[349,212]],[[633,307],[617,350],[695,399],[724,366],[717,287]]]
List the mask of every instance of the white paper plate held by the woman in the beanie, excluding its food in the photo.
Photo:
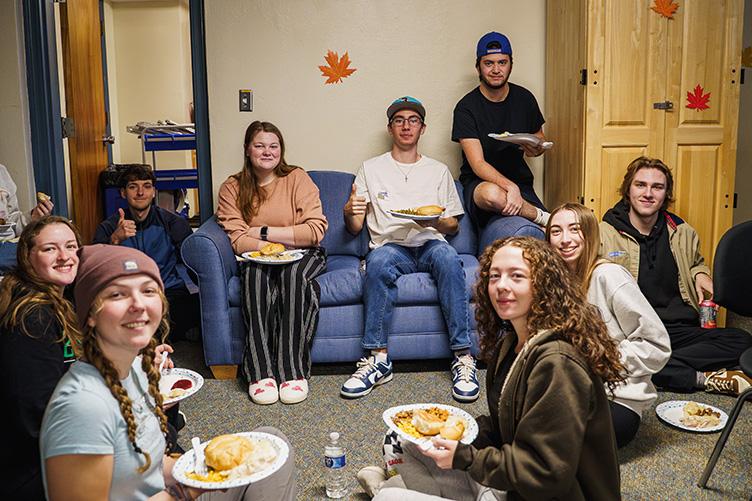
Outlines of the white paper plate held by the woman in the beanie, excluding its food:
[[[172,468],[172,476],[175,477],[175,480],[183,485],[187,485],[188,487],[211,490],[232,489],[233,487],[241,487],[243,485],[252,484],[253,482],[258,482],[259,480],[268,477],[272,473],[275,473],[277,470],[282,468],[282,465],[285,464],[285,461],[287,461],[287,456],[290,454],[290,448],[287,446],[287,443],[278,436],[272,435],[271,433],[248,431],[243,433],[233,433],[233,435],[247,437],[251,439],[251,441],[268,440],[277,450],[277,458],[269,466],[261,471],[255,472],[252,475],[236,478],[233,480],[225,480],[223,482],[206,482],[202,480],[193,480],[191,478],[188,478],[187,476],[188,473],[194,472],[196,470],[196,458],[193,449],[191,449],[190,451],[180,456],[180,458],[178,458],[178,460],[175,462],[175,466],[173,466]],[[206,444],[208,443],[208,440],[206,442],[202,442],[201,447],[206,447]]]

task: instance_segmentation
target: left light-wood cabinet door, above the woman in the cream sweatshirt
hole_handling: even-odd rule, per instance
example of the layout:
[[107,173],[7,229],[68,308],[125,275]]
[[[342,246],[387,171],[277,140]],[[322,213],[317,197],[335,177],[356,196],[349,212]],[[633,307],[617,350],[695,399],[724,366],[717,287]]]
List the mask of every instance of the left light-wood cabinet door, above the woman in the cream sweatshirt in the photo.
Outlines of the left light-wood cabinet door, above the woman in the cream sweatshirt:
[[588,6],[585,205],[598,217],[619,199],[627,165],[663,155],[667,23],[652,0]]

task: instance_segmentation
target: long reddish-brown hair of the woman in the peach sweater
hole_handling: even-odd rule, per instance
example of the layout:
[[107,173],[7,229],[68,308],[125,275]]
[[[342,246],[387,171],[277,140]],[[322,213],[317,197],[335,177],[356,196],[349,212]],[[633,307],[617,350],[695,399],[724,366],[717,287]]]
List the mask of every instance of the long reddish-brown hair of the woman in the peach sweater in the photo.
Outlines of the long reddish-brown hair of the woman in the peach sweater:
[[282,132],[280,132],[276,125],[256,120],[248,126],[245,130],[245,138],[243,140],[243,170],[232,176],[238,181],[238,199],[236,203],[246,223],[249,223],[258,214],[259,207],[266,201],[267,196],[266,190],[262,190],[258,185],[256,172],[253,170],[251,159],[248,156],[248,146],[260,132],[269,132],[279,139],[279,163],[274,168],[274,174],[277,177],[285,177],[293,170],[300,168],[288,165],[285,161],[285,140],[282,137]]

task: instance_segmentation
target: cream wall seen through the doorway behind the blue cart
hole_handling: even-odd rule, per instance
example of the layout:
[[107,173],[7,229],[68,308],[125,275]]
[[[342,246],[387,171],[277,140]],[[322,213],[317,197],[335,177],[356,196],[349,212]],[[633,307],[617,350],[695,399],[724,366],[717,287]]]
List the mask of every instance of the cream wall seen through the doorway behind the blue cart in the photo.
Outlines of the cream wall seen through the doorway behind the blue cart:
[[[105,43],[113,162],[141,162],[136,122],[190,121],[191,83],[188,0],[105,1]],[[152,163],[147,155],[147,163]],[[157,168],[184,169],[190,152],[157,153]]]

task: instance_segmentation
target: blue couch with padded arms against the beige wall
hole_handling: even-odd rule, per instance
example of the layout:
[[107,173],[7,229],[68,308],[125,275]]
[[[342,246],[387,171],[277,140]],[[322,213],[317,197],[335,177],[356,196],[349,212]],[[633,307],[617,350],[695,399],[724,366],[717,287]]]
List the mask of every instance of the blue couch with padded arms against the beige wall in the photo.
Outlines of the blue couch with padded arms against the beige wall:
[[[311,171],[319,188],[329,229],[321,245],[327,251],[327,270],[317,278],[321,287],[319,325],[314,337],[313,362],[353,362],[363,355],[363,275],[361,259],[368,252],[368,231],[351,235],[342,209],[355,176],[344,172]],[[462,187],[457,183],[457,189]],[[449,238],[457,249],[471,291],[477,276],[478,242],[490,243],[493,235],[533,234],[540,228],[517,217],[493,221],[481,235],[469,218],[460,220],[460,231]],[[235,377],[244,349],[245,327],[240,309],[239,267],[230,240],[210,218],[189,236],[182,247],[185,264],[198,276],[201,330],[206,364],[215,377]],[[451,356],[446,325],[438,304],[433,279],[427,273],[402,276],[397,281],[398,299],[389,326],[389,354],[395,360],[448,358]],[[473,341],[475,319],[471,315]],[[477,342],[475,344],[477,347]]]

